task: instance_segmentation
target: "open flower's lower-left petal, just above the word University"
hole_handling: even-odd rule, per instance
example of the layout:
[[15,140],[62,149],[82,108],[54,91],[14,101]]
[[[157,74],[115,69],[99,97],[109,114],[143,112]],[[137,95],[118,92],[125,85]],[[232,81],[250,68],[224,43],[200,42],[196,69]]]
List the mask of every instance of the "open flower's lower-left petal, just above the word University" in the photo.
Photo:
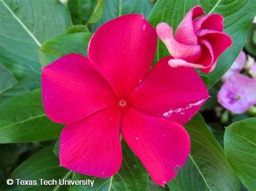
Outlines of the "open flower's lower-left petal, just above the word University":
[[112,107],[66,125],[60,135],[60,165],[100,178],[117,173],[122,163],[121,114]]

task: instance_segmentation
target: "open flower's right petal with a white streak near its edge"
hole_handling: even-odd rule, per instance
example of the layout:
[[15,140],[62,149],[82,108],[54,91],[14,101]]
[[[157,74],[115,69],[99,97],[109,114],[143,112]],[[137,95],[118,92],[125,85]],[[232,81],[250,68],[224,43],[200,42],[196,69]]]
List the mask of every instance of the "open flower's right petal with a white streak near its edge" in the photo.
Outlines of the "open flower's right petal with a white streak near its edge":
[[129,97],[129,105],[147,115],[188,122],[208,98],[208,91],[194,68],[172,68],[171,56],[159,60]]

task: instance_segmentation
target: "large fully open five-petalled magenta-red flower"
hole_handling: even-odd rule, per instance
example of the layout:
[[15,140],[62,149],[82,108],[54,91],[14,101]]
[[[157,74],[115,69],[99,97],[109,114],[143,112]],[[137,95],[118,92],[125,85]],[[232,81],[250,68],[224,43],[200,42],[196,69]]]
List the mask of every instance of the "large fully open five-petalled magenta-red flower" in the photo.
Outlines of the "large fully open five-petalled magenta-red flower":
[[208,93],[196,70],[171,68],[170,57],[150,69],[156,46],[147,20],[126,15],[99,27],[88,58],[69,54],[43,68],[46,115],[67,124],[60,135],[62,166],[100,178],[117,173],[121,132],[154,182],[165,185],[176,176],[190,152],[181,124]]

